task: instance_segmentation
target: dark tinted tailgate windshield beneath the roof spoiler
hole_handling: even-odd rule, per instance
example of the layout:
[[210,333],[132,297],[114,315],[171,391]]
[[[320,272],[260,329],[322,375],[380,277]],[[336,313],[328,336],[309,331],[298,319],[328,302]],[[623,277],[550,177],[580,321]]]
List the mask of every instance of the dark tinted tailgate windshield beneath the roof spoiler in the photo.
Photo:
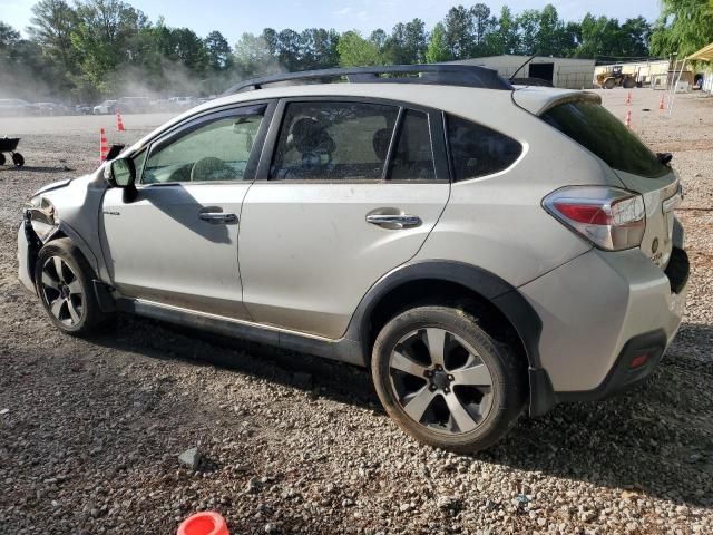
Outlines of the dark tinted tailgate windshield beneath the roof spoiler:
[[599,104],[560,104],[545,111],[541,117],[614,169],[648,178],[657,178],[671,171]]

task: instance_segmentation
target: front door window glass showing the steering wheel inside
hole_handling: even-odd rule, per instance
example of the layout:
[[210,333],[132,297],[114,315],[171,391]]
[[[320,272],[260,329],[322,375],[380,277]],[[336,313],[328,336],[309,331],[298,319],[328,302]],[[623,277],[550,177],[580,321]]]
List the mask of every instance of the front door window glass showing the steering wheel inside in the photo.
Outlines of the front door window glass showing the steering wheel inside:
[[152,147],[141,184],[241,181],[263,113],[222,117]]

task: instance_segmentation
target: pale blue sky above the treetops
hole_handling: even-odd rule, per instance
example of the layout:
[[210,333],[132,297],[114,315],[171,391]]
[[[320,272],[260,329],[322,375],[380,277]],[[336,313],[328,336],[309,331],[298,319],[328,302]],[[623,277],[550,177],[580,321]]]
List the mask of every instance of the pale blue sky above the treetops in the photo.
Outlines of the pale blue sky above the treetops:
[[[0,20],[22,30],[31,17],[37,0],[0,0]],[[339,31],[361,30],[369,35],[375,28],[390,31],[397,22],[416,17],[428,29],[442,20],[452,7],[477,3],[475,0],[125,0],[144,11],[152,21],[164,16],[166,25],[187,27],[201,37],[221,31],[235,45],[244,31],[260,33],[263,28],[334,28]],[[482,0],[481,0],[482,1]],[[72,3],[71,1],[69,3]],[[494,13],[504,4],[512,11],[541,9],[547,0],[485,0]],[[658,16],[660,0],[550,0],[563,20],[579,20],[587,11],[624,20],[644,16],[653,21]]]

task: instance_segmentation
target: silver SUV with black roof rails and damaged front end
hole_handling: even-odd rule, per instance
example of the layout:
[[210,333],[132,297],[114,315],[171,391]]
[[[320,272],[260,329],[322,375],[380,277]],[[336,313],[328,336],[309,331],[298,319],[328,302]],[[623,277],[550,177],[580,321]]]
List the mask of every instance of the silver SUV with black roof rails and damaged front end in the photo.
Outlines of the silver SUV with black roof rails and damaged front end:
[[662,358],[668,159],[596,95],[478,67],[280,75],[40,189],[20,280],[68,333],[118,310],[370,367],[407,432],[471,451]]

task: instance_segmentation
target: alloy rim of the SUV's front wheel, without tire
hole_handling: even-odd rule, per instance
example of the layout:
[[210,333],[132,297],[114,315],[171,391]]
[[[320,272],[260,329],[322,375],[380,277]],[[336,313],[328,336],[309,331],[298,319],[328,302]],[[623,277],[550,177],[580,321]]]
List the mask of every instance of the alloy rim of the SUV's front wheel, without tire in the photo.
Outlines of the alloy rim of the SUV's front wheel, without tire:
[[76,327],[85,310],[84,288],[75,270],[60,256],[50,256],[42,265],[42,299],[61,323]]

